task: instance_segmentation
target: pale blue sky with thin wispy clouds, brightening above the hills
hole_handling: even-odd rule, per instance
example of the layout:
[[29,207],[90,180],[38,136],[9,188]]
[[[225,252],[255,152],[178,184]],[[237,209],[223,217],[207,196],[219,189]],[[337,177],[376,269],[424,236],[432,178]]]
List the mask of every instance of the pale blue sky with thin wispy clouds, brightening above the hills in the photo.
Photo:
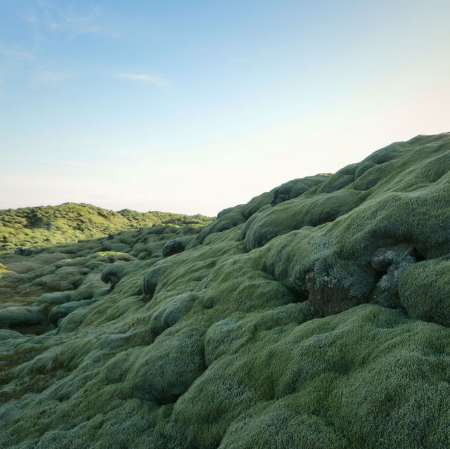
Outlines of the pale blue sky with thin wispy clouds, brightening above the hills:
[[450,131],[448,0],[0,0],[0,209],[214,216]]

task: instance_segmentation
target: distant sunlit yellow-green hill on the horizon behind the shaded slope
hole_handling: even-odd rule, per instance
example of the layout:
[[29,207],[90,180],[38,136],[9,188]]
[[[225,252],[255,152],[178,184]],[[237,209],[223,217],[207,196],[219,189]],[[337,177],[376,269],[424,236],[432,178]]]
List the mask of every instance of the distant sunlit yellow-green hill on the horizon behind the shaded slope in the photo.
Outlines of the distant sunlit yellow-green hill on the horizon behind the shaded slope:
[[212,219],[167,212],[114,212],[91,204],[66,202],[59,206],[0,210],[0,252],[16,247],[48,246],[100,237],[118,230],[172,223],[203,226]]

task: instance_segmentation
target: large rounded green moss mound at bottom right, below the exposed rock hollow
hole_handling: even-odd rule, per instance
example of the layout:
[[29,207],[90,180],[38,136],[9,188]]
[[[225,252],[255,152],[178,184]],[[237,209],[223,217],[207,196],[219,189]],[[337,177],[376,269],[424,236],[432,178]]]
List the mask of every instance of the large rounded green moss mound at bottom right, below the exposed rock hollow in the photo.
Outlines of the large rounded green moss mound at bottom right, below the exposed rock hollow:
[[406,438],[389,429],[400,415],[423,422],[410,398],[420,401],[423,389],[432,391],[430,382],[448,389],[442,384],[448,361],[432,353],[442,351],[449,331],[442,328],[438,336],[437,330],[365,305],[300,326],[256,331],[177,401],[172,437],[179,447],[264,448],[271,441],[280,448],[302,442],[387,448],[395,441],[408,448],[423,441],[424,447],[444,448],[445,396],[431,393],[423,403],[431,414],[427,422],[436,425],[425,424]]

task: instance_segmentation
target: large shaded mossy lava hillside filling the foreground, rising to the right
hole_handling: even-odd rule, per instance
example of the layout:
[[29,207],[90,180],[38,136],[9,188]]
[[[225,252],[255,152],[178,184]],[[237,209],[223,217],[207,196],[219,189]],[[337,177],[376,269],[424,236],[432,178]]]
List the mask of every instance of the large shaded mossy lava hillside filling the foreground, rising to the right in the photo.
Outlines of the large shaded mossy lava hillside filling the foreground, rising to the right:
[[449,197],[450,134],[417,136],[1,254],[0,447],[448,448]]

